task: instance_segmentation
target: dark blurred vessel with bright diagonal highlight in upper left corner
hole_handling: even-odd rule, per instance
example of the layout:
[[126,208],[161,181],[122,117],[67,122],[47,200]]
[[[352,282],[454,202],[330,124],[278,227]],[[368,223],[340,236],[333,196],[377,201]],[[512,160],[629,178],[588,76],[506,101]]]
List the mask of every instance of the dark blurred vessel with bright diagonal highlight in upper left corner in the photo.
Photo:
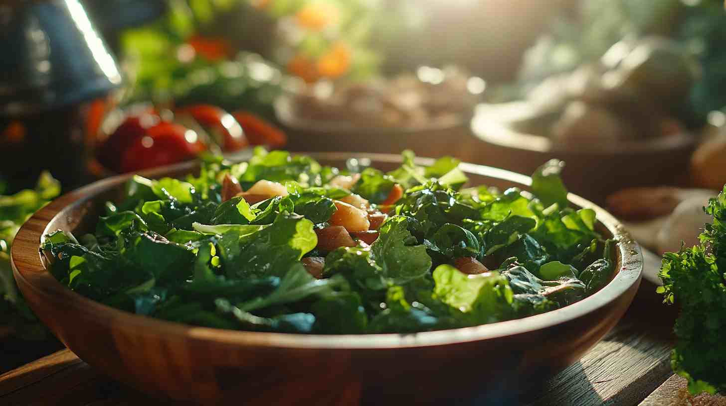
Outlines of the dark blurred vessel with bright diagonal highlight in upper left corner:
[[121,85],[113,55],[78,0],[0,2],[0,176],[65,190],[89,181],[91,105]]

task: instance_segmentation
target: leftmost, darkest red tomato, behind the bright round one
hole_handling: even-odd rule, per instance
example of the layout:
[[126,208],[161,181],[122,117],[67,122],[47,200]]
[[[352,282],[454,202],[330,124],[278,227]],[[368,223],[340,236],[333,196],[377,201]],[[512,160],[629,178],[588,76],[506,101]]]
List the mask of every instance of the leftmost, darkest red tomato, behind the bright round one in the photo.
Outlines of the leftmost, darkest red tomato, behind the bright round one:
[[105,167],[115,172],[122,170],[123,153],[139,141],[148,128],[158,125],[161,121],[158,112],[147,109],[134,112],[126,117],[113,133],[106,138],[98,149],[97,157]]

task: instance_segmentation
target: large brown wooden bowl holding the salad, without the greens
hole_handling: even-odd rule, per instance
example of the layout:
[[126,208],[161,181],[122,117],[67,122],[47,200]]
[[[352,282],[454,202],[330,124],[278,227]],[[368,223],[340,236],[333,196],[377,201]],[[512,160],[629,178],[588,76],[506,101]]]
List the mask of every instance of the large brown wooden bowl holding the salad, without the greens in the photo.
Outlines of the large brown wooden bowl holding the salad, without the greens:
[[[383,170],[401,163],[386,154],[311,154],[325,165],[370,158]],[[421,165],[431,159],[419,159]],[[180,176],[186,163],[143,173]],[[527,188],[525,175],[461,164],[471,184]],[[418,334],[299,335],[186,326],[116,310],[62,286],[39,251],[57,229],[93,229],[102,204],[116,199],[130,175],[98,181],[61,196],[17,233],[12,266],[39,318],[82,360],[149,394],[205,405],[378,405],[480,397],[500,404],[579,360],[630,305],[643,268],[640,247],[600,207],[600,232],[615,237],[617,273],[590,297],[559,310],[484,326]],[[481,398],[481,397],[484,398]]]

